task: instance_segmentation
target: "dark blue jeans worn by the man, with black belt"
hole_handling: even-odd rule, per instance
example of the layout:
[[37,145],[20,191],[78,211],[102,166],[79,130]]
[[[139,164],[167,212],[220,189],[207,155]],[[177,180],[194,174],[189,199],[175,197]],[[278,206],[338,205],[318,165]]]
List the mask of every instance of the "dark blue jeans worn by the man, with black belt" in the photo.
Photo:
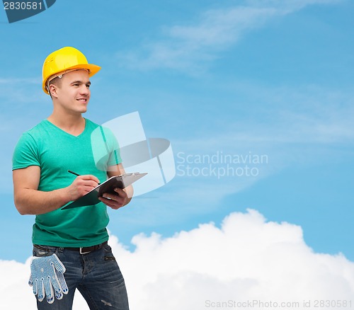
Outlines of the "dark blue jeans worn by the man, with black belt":
[[38,309],[72,309],[77,288],[91,310],[129,310],[125,282],[108,244],[87,254],[55,246],[33,246],[33,256],[50,256],[54,253],[67,269],[64,277],[69,293],[64,294],[62,299],[55,299],[52,304],[48,304],[46,299],[42,302],[37,300]]

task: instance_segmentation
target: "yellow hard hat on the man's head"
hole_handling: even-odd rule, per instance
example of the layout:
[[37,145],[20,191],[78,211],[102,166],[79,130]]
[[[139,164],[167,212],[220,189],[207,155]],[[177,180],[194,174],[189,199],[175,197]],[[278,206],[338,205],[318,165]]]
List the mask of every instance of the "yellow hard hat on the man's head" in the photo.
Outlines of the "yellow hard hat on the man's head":
[[89,64],[85,55],[74,47],[63,47],[49,54],[42,69],[43,91],[49,95],[47,82],[75,69],[86,69],[89,71],[89,76],[93,76],[101,67],[96,66],[96,64]]

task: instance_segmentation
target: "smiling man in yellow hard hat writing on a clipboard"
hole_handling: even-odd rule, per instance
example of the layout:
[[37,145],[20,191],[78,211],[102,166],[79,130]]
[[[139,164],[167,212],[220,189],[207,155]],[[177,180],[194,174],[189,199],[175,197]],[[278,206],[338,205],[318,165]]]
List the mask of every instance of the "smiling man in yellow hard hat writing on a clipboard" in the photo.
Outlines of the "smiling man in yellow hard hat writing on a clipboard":
[[[30,285],[38,309],[72,309],[76,288],[90,309],[129,309],[125,282],[107,243],[106,206],[127,205],[132,188],[115,188],[97,205],[62,209],[124,173],[113,134],[82,116],[91,94],[89,78],[100,69],[74,47],[52,52],[42,69],[52,114],[22,135],[13,154],[16,208],[36,216]],[[105,145],[106,156],[100,159],[94,155],[101,154],[94,132],[102,133]]]

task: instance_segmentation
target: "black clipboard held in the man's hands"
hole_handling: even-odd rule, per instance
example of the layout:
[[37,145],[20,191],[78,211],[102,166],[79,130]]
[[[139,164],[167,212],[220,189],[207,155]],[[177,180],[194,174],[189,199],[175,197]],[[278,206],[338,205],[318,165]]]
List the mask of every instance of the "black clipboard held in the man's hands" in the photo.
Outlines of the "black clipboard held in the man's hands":
[[86,207],[89,205],[96,205],[101,200],[98,200],[98,197],[101,197],[104,193],[115,194],[115,188],[126,188],[128,185],[134,183],[139,180],[143,176],[146,176],[147,173],[125,173],[120,176],[112,176],[105,180],[103,183],[96,186],[89,191],[89,193],[80,197],[78,200],[73,202],[69,202],[68,205],[64,205],[62,210],[64,209],[72,209],[76,207]]

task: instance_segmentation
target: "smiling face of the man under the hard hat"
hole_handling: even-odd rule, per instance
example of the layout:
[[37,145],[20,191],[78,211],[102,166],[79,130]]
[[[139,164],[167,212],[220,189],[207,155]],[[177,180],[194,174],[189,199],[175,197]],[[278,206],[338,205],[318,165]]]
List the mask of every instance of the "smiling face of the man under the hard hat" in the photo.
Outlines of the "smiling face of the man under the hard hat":
[[85,113],[91,96],[90,85],[86,70],[64,74],[57,87],[57,102],[68,113]]

